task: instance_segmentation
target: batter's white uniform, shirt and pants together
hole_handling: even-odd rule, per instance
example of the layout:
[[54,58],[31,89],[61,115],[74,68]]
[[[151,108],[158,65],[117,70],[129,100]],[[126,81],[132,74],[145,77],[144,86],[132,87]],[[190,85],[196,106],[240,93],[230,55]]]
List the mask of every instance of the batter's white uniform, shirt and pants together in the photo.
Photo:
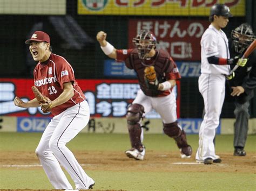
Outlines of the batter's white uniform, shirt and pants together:
[[204,98],[205,116],[199,130],[199,147],[196,160],[218,159],[215,154],[213,139],[219,125],[219,117],[225,97],[225,76],[230,71],[228,65],[214,65],[207,60],[210,56],[230,58],[226,34],[210,25],[201,38],[201,75],[199,91]]

